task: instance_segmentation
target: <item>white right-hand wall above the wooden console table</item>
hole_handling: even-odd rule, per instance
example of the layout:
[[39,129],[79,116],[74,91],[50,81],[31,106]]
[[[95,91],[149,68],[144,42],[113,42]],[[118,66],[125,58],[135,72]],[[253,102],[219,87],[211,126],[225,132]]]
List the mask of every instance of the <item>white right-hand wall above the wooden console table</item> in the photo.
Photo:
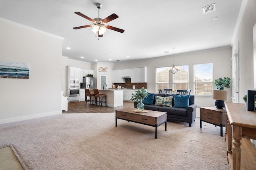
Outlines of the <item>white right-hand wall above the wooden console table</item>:
[[[239,41],[239,74],[240,89],[239,103],[244,103],[242,99],[247,90],[254,89],[253,68],[253,26],[256,23],[256,0],[247,0],[247,4],[242,15],[239,29],[234,38],[232,54],[235,53],[236,45]],[[256,36],[256,35],[254,35]]]

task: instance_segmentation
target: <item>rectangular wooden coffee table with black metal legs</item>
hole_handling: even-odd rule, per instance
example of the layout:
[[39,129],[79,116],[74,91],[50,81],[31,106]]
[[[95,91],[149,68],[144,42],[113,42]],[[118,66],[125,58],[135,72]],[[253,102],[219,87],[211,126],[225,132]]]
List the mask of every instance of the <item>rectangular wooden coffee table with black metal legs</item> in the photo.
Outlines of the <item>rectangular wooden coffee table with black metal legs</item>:
[[136,108],[124,108],[116,110],[116,127],[117,119],[123,119],[140,123],[143,125],[156,127],[155,138],[157,139],[157,127],[165,123],[165,131],[167,130],[167,113],[161,111],[148,110],[146,113],[136,113],[133,110]]

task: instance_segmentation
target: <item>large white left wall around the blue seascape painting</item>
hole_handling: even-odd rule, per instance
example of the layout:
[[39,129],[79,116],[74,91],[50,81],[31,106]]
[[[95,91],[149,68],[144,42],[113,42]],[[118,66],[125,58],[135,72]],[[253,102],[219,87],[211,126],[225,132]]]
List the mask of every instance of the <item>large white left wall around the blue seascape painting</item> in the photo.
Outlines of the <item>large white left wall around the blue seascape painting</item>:
[[0,60],[29,64],[29,79],[0,78],[0,124],[61,114],[62,37],[0,18]]

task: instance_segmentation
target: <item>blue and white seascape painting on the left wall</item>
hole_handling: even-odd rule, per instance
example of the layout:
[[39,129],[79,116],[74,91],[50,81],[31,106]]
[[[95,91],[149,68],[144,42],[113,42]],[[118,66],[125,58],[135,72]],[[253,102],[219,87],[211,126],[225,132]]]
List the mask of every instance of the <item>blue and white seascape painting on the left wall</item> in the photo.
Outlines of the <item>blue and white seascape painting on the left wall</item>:
[[0,78],[24,78],[28,79],[28,64],[0,60]]

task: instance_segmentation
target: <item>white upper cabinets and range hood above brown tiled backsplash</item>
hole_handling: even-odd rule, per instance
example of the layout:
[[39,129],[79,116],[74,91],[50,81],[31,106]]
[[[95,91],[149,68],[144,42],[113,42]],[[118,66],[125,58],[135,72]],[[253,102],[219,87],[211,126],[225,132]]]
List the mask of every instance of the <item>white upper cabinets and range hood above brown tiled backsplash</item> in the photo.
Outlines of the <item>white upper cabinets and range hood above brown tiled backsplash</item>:
[[123,76],[131,76],[132,83],[148,82],[148,67],[112,70],[112,83],[125,83]]

